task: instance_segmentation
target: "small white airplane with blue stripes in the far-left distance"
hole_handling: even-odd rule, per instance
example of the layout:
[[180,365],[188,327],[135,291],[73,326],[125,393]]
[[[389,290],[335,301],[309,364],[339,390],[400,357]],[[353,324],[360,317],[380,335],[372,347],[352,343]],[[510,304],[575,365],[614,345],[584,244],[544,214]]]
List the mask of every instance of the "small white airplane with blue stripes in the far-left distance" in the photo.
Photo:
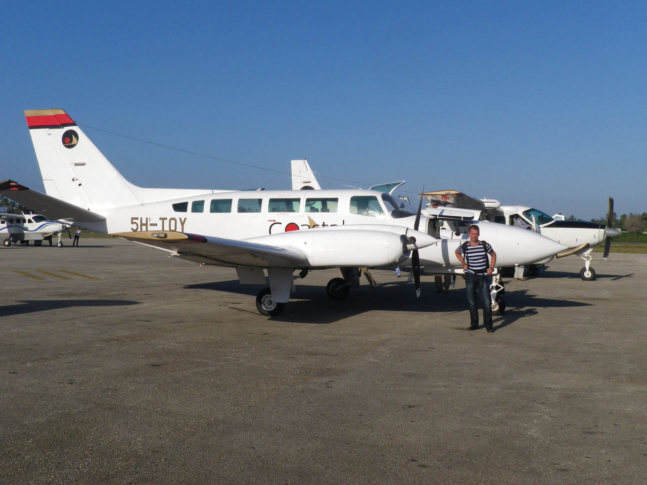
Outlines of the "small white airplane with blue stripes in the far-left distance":
[[59,248],[63,246],[61,234],[68,230],[60,221],[50,221],[42,214],[8,214],[0,213],[0,238],[6,236],[3,244],[11,246],[12,242],[34,241],[34,246],[40,246],[43,239],[58,235]]

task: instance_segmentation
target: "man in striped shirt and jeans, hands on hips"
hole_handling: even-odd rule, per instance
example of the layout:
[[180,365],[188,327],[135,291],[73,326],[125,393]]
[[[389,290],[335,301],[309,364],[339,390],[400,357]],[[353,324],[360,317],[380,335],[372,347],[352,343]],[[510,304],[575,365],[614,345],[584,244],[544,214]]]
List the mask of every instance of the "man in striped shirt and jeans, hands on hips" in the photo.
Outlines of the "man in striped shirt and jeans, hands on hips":
[[[469,330],[479,328],[479,311],[476,307],[476,294],[478,292],[483,300],[483,326],[488,332],[494,332],[494,328],[492,328],[492,305],[490,303],[490,276],[496,266],[496,253],[490,244],[479,241],[479,233],[479,226],[472,224],[468,232],[470,239],[458,246],[456,257],[463,264],[463,272],[465,272],[467,303],[470,306]],[[492,257],[489,264],[488,254]]]

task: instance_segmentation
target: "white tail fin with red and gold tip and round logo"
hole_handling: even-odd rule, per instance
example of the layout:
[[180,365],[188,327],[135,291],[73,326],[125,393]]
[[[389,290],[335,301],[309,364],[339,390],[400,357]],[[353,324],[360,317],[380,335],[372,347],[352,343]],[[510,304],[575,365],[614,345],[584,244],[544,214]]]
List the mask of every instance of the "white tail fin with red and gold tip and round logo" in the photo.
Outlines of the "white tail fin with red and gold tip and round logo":
[[25,118],[47,195],[90,211],[142,203],[65,111],[27,110]]

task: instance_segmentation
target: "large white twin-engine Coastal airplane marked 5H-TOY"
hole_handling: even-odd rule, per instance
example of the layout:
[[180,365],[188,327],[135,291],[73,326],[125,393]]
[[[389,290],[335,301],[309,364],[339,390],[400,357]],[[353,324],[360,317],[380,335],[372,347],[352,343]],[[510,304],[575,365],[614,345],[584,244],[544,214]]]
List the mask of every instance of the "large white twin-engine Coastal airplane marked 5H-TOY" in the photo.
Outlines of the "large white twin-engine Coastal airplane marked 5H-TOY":
[[[276,316],[295,270],[340,268],[326,291],[343,299],[356,268],[457,267],[464,239],[433,237],[438,219],[366,190],[223,191],[140,188],[128,182],[62,109],[25,111],[46,194],[12,180],[0,193],[75,225],[141,242],[198,264],[236,268],[243,284],[267,284],[256,307]],[[421,199],[422,202],[422,199]],[[562,244],[518,228],[477,222],[505,265],[538,261]],[[421,228],[418,231],[417,228]],[[514,243],[510,243],[514,241]],[[499,253],[498,253],[499,254]],[[414,271],[419,274],[418,271]],[[419,294],[419,277],[415,277]]]

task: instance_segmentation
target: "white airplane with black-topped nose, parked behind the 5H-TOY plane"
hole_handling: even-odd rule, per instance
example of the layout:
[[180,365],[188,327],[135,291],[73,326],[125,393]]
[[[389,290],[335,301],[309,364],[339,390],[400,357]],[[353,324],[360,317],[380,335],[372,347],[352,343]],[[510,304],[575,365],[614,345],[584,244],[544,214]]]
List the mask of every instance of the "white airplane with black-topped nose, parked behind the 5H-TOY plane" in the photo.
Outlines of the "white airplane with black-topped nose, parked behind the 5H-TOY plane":
[[[548,214],[527,206],[502,206],[501,202],[495,199],[475,199],[457,190],[440,190],[425,192],[422,197],[430,201],[432,207],[465,208],[479,211],[481,219],[518,226],[540,233],[567,246],[557,254],[557,257],[565,257],[576,254],[584,260],[584,268],[580,270],[580,278],[584,281],[595,279],[595,270],[591,268],[591,251],[598,244],[604,244],[604,255],[607,259],[611,248],[611,239],[618,237],[620,231],[613,228],[613,199],[609,197],[607,212],[607,224],[586,221],[565,221],[561,215]],[[538,261],[531,266],[533,274],[538,274],[538,266],[547,261]]]

